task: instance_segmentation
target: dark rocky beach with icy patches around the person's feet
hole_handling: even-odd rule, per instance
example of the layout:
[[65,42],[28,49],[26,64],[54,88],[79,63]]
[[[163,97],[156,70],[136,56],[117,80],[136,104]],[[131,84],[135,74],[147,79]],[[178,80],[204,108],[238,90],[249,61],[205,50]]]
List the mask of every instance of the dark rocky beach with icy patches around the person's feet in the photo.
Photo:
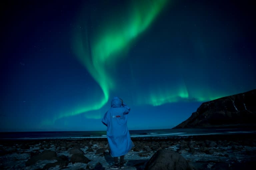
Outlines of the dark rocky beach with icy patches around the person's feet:
[[[256,134],[134,137],[125,169],[255,169]],[[107,138],[1,140],[0,169],[104,170]]]

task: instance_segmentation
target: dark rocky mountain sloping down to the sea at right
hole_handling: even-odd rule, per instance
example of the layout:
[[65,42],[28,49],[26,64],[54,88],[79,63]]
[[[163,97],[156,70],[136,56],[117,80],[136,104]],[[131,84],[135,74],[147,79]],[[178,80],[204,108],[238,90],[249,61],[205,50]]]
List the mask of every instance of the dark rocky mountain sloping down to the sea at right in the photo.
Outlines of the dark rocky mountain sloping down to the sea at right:
[[256,126],[256,89],[203,103],[174,128]]

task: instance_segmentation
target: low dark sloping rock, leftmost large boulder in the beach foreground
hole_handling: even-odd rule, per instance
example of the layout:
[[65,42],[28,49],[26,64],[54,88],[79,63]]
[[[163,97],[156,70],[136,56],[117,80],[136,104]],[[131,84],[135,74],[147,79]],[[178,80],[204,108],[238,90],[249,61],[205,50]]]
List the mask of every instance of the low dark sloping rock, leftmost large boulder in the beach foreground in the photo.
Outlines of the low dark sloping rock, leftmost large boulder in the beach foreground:
[[52,150],[44,150],[38,155],[32,156],[29,160],[26,161],[26,166],[34,165],[39,160],[51,160],[53,157],[56,157],[57,153]]

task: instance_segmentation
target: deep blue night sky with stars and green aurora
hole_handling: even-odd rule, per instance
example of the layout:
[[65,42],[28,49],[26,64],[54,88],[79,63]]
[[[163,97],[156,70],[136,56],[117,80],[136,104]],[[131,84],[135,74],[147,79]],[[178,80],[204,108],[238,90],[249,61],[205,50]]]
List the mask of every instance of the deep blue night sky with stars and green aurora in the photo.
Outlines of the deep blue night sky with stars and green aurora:
[[216,0],[1,3],[0,131],[173,128],[256,88],[254,5]]

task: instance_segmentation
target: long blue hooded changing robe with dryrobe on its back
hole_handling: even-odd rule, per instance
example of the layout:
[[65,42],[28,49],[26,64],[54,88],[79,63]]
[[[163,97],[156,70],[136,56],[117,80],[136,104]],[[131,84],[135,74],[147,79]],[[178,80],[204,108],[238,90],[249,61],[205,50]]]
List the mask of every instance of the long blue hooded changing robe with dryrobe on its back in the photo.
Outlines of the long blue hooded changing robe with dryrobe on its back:
[[133,147],[133,142],[127,127],[127,114],[130,108],[114,97],[111,108],[105,113],[102,123],[107,126],[107,138],[111,156],[125,155]]

